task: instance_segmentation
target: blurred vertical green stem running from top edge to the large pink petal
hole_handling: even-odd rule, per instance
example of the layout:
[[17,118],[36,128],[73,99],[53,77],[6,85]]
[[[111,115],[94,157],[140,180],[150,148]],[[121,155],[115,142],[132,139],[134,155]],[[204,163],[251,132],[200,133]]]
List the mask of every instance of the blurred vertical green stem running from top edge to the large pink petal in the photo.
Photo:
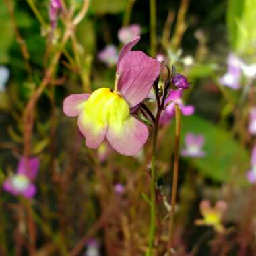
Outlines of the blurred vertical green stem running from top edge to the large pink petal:
[[156,0],[150,0],[150,54],[156,57]]

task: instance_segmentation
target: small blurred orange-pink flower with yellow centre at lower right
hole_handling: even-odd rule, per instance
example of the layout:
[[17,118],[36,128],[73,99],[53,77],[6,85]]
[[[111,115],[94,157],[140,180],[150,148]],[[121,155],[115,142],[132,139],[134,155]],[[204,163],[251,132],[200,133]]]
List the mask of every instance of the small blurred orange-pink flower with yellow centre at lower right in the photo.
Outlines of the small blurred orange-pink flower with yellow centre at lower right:
[[224,201],[217,201],[214,207],[211,207],[210,201],[203,200],[200,203],[200,211],[203,219],[195,220],[196,225],[212,226],[217,232],[223,232],[222,217],[226,212],[227,204]]

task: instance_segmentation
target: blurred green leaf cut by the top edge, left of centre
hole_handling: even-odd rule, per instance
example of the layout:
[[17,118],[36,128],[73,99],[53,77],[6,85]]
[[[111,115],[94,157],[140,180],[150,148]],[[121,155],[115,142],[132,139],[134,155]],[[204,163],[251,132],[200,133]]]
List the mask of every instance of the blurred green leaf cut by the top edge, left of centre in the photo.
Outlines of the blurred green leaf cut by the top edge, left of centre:
[[127,0],[93,0],[91,1],[92,11],[96,14],[116,14],[125,10]]

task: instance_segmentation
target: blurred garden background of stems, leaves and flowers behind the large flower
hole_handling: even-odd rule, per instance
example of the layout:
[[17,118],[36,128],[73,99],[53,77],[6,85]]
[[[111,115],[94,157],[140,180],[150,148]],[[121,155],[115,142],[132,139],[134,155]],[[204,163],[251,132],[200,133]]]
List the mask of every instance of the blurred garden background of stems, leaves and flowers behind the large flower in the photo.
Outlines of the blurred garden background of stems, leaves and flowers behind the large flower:
[[[114,87],[134,33],[191,84],[177,99],[194,111],[181,117],[174,255],[256,255],[255,17],[255,0],[0,1],[0,255],[145,255],[151,137],[135,157],[91,150],[62,110],[69,94]],[[173,154],[174,117],[158,134],[154,255],[166,253]],[[32,198],[5,186],[25,156],[39,163]]]

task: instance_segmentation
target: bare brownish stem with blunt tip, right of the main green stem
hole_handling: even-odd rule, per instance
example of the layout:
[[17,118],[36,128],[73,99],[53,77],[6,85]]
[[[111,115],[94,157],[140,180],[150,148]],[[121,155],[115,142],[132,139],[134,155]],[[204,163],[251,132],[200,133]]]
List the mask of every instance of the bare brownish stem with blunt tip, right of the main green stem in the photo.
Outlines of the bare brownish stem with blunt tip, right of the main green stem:
[[181,137],[181,110],[177,102],[175,102],[175,141],[174,141],[174,166],[173,166],[173,179],[172,179],[172,199],[170,210],[170,224],[169,224],[169,240],[168,240],[168,253],[172,255],[172,240],[174,228],[174,214],[178,188],[178,174],[179,174],[179,141]]

